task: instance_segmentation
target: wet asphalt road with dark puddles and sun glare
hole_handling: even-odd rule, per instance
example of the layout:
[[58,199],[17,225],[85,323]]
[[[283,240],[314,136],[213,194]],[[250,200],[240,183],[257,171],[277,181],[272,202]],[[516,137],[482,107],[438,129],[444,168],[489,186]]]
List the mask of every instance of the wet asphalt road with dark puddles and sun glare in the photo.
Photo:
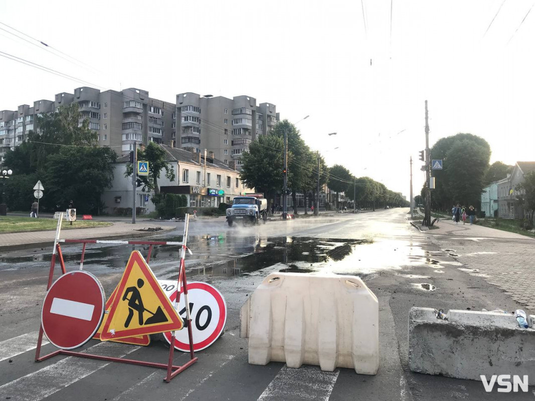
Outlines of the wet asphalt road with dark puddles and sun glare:
[[[12,383],[32,383],[36,379],[28,377],[39,376],[43,368],[55,369],[64,359],[55,357],[36,364],[34,350],[30,350],[11,362],[0,361],[0,399],[533,399],[532,388],[529,394],[505,395],[495,390],[487,394],[480,382],[409,371],[410,307],[514,310],[515,303],[494,286],[460,270],[469,266],[458,263],[455,250],[433,244],[431,236],[408,224],[406,213],[406,209],[393,209],[294,221],[272,219],[257,227],[227,227],[223,218],[194,221],[187,240],[193,252],[186,259],[188,280],[211,283],[224,295],[228,308],[225,334],[198,352],[197,364],[170,384],[162,383],[159,369],[101,363],[94,373],[76,377],[79,371],[70,365],[65,375],[74,377],[53,392],[48,390],[50,383],[38,383],[35,392],[29,386],[15,391],[18,387]],[[181,241],[182,232],[183,223],[177,222],[172,232],[151,239]],[[84,268],[98,277],[106,295],[116,286],[133,249],[145,256],[148,252],[147,246],[87,247]],[[78,268],[81,247],[64,246],[63,251],[67,269]],[[50,252],[51,247],[0,253],[0,344],[39,329]],[[150,266],[159,279],[176,279],[179,256],[179,246],[156,247]],[[272,272],[360,276],[379,299],[378,374],[357,375],[351,369],[339,369],[334,385],[318,384],[309,394],[310,388],[303,384],[308,377],[305,373],[300,373],[299,380],[281,381],[284,364],[249,365],[247,340],[239,338],[239,312],[249,294]],[[83,349],[96,344],[91,340]],[[153,341],[149,347],[133,351],[124,347],[132,358],[165,361],[167,356],[163,342]],[[44,346],[45,352],[51,350],[50,344]],[[176,354],[177,363],[185,360],[184,354]],[[284,396],[274,396],[280,394],[273,390],[277,386],[284,386]]]

